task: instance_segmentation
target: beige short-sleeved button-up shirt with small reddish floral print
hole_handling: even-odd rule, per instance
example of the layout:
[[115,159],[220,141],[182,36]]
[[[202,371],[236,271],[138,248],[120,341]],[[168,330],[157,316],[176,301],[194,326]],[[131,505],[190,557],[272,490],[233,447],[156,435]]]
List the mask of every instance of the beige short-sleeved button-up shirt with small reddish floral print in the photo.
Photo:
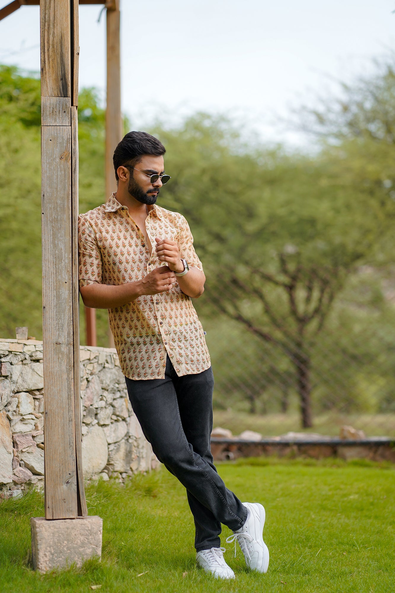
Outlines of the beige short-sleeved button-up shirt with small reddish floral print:
[[[145,225],[152,246],[155,237],[173,239],[189,266],[203,269],[184,216],[155,205]],[[105,204],[79,215],[78,250],[79,286],[133,282],[163,265],[155,249],[149,254],[144,235],[114,193]],[[163,379],[166,353],[179,377],[211,365],[202,324],[177,282],[170,292],[109,309],[109,316],[122,372],[129,379]]]

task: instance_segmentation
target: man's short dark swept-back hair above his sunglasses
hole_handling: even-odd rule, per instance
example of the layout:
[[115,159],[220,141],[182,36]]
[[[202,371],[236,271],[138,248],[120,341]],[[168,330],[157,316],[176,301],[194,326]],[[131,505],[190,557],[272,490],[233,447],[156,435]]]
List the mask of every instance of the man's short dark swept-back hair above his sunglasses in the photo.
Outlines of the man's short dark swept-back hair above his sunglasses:
[[141,160],[142,155],[152,154],[161,157],[166,152],[162,142],[146,132],[128,132],[114,150],[115,177],[118,181],[117,168],[121,165],[134,167]]

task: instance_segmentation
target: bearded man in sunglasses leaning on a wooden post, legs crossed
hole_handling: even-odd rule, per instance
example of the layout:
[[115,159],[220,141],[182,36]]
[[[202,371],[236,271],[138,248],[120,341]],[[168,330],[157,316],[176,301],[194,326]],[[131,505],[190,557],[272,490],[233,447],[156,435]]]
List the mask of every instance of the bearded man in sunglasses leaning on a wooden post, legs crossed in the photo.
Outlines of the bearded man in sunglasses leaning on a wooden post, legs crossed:
[[217,578],[225,563],[221,523],[247,566],[266,572],[265,509],[227,489],[210,451],[214,378],[192,298],[205,275],[186,219],[155,205],[165,148],[129,132],[114,152],[117,192],[79,216],[79,285],[87,307],[109,310],[133,412],[152,450],[186,487],[195,520],[196,561]]

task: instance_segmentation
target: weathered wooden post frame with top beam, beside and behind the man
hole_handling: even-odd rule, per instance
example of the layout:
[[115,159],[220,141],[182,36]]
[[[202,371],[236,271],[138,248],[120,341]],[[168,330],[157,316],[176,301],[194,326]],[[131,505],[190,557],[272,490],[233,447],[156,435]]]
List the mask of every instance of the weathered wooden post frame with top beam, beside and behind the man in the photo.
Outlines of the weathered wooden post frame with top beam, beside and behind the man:
[[87,516],[82,476],[78,290],[78,4],[107,8],[106,195],[122,138],[119,0],[15,0],[0,20],[40,5],[45,518]]

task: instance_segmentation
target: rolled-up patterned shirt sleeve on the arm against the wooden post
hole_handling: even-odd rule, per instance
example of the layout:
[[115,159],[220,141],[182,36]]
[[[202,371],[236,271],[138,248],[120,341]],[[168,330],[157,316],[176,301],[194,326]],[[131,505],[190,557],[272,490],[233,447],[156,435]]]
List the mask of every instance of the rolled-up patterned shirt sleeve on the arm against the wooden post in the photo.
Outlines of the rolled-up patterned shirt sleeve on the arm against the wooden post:
[[103,260],[96,234],[84,215],[78,216],[79,286],[103,283]]

